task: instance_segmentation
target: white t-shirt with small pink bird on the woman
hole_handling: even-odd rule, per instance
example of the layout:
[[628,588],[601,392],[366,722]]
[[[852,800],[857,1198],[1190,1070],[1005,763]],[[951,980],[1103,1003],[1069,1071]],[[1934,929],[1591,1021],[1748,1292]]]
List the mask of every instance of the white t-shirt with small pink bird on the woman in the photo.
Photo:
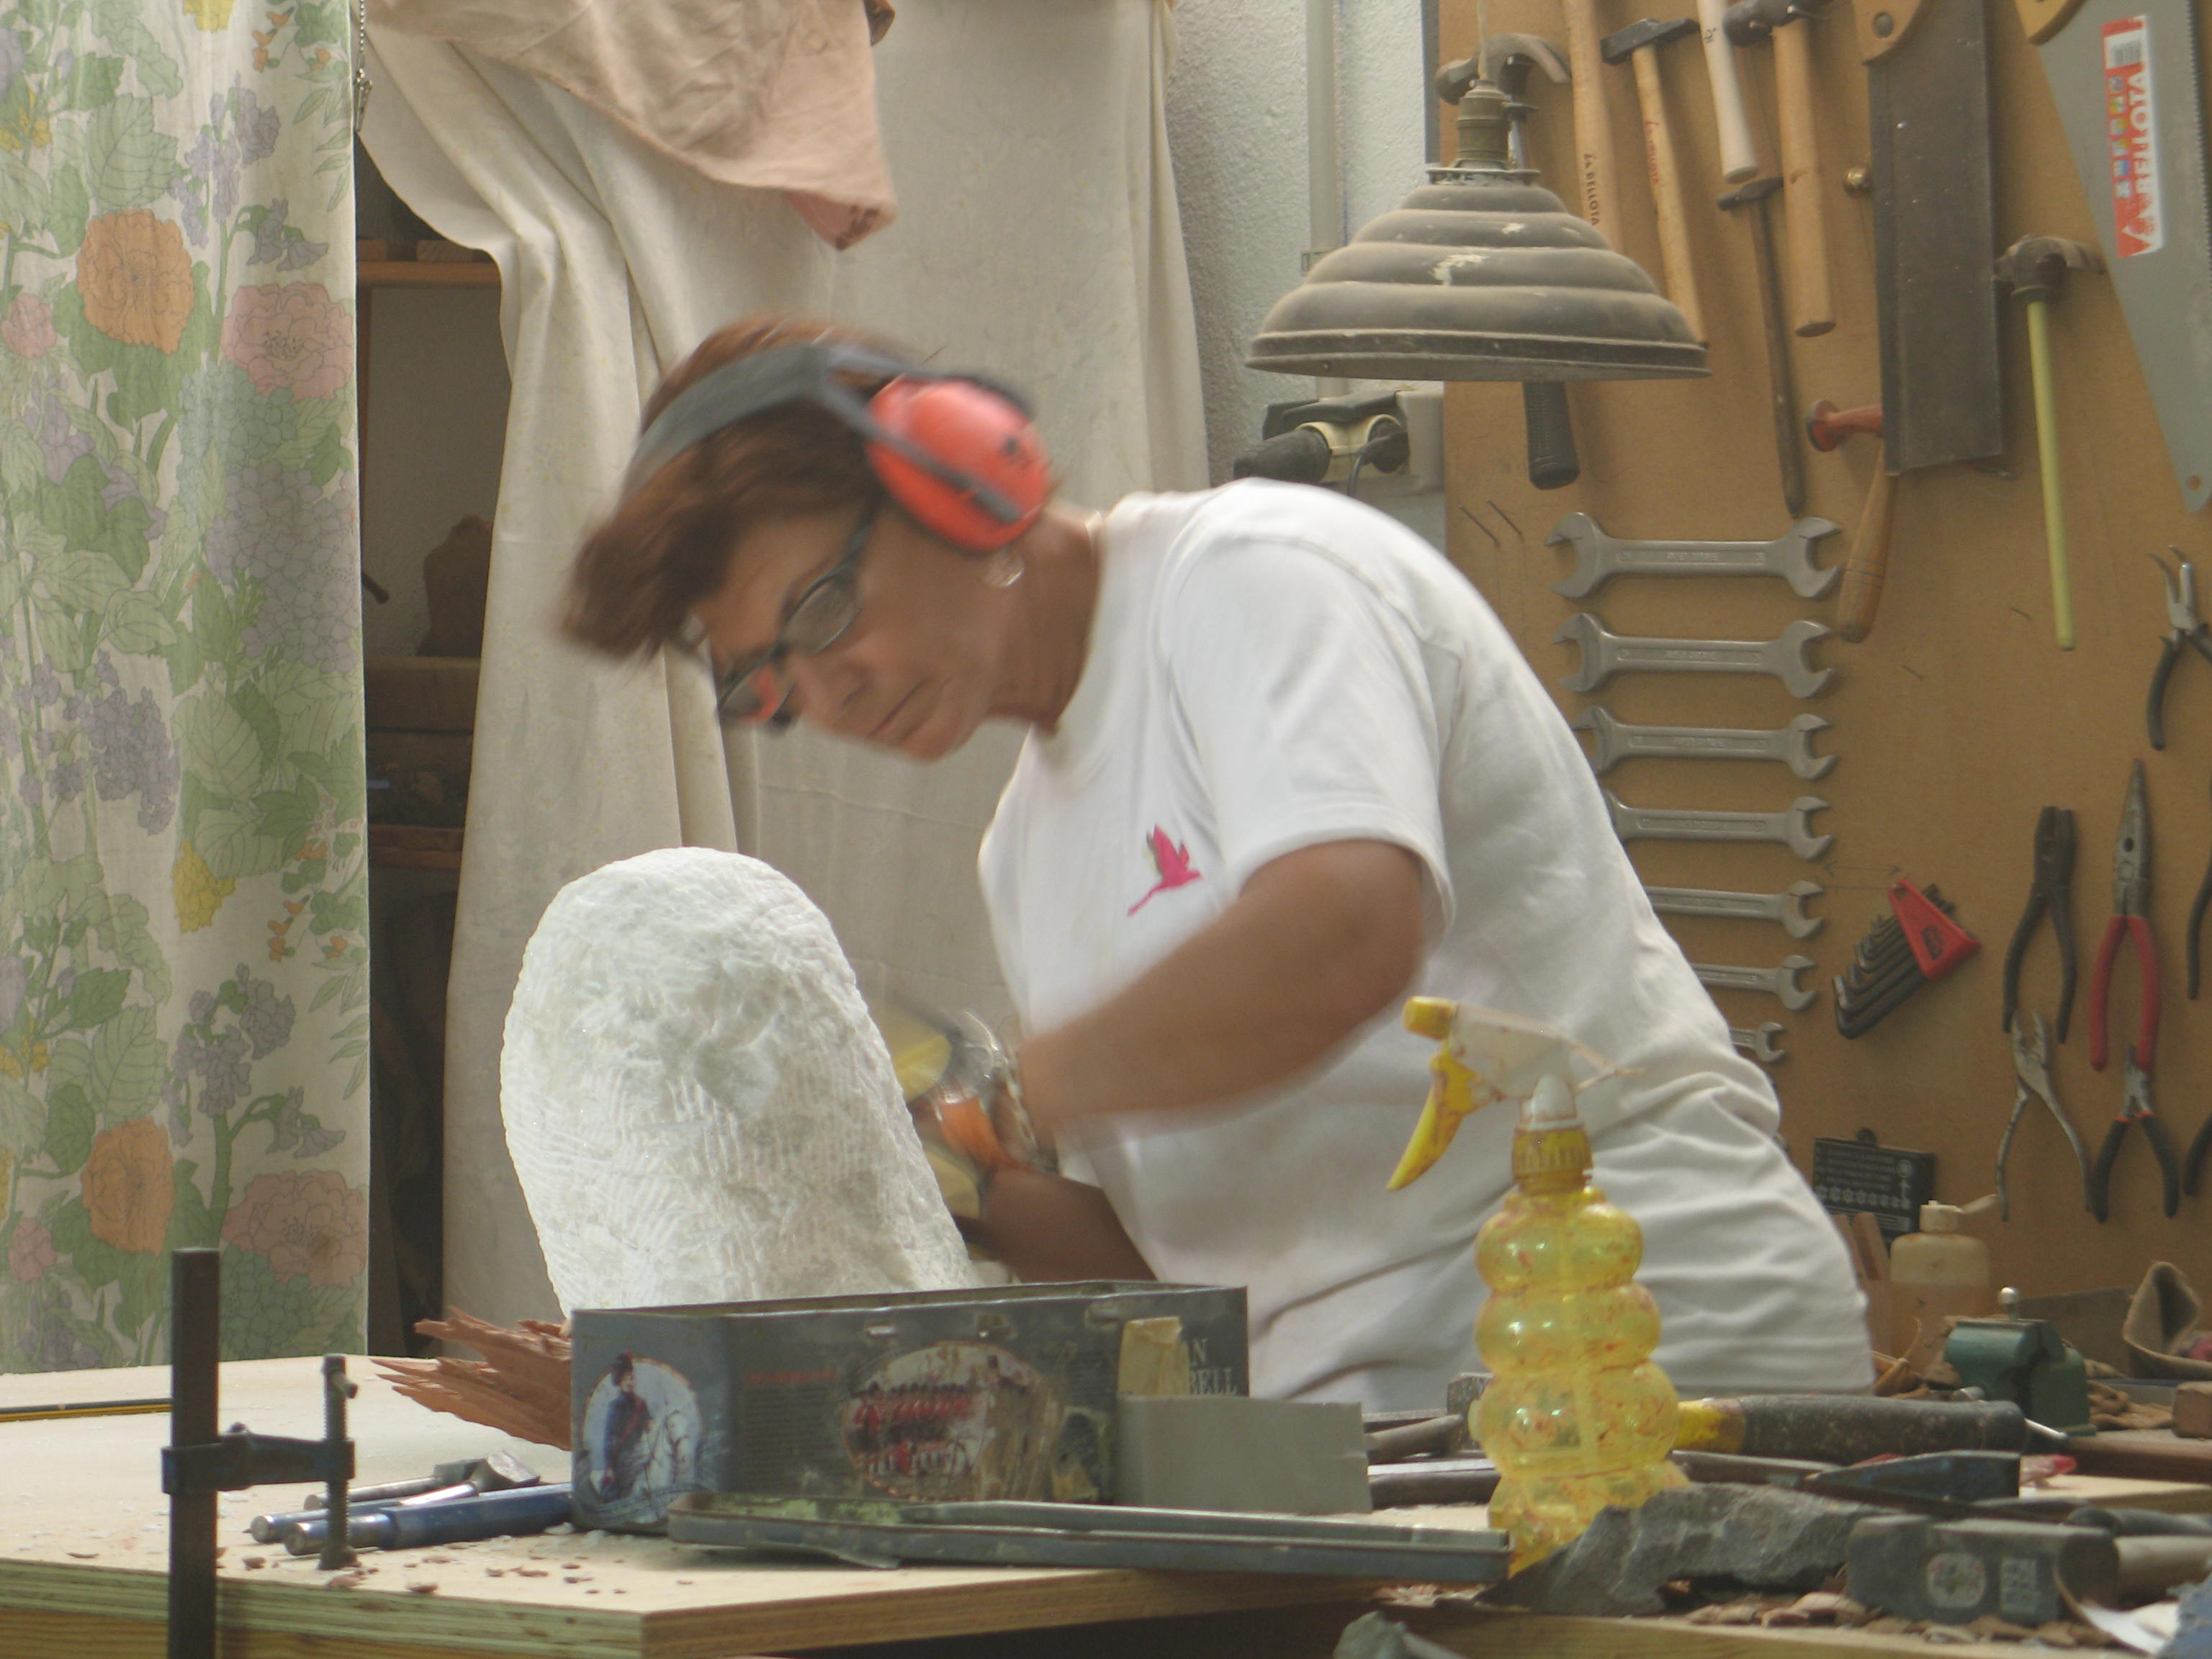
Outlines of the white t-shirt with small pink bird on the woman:
[[[1467,580],[1383,513],[1261,480],[1126,498],[1102,564],[1082,681],[982,845],[1026,1029],[1110,998],[1272,858],[1402,845],[1427,872],[1411,993],[1546,1020],[1632,1068],[1582,1113],[1599,1183],[1644,1223],[1677,1387],[1863,1387],[1851,1267],[1772,1139],[1774,1091]],[[1161,1279],[1248,1287],[1254,1394],[1411,1409],[1478,1365],[1471,1243],[1511,1186],[1513,1110],[1387,1192],[1429,1055],[1391,1009],[1287,1086],[1093,1119],[1062,1148]]]

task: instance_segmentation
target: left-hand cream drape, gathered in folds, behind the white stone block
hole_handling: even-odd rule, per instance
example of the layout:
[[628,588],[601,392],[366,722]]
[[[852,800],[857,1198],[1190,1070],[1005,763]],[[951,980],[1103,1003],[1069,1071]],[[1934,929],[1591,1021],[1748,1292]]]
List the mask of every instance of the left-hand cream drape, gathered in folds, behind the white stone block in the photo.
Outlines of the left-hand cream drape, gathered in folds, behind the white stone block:
[[513,1321],[553,1312],[500,1128],[522,947],[553,894],[604,863],[737,847],[706,675],[562,644],[557,595],[644,392],[739,312],[821,307],[834,257],[781,195],[712,184],[557,86],[436,40],[374,44],[363,137],[440,234],[498,261],[513,374],[445,1086],[445,1296]]

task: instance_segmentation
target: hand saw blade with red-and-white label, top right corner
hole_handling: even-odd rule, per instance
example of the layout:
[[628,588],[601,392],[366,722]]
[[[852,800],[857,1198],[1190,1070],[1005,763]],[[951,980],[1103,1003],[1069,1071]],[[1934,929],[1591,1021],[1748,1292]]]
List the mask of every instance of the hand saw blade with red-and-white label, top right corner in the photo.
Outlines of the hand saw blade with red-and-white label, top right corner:
[[2181,498],[2212,498],[2212,215],[2190,0],[2015,0],[2042,49]]

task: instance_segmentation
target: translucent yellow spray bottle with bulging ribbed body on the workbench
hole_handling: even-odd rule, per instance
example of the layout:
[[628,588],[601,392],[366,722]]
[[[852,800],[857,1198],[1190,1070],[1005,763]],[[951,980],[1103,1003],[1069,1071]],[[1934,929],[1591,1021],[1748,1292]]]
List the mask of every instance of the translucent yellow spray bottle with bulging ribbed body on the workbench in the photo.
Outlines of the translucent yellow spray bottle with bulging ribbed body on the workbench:
[[1416,998],[1405,1024],[1438,1053],[1394,1188],[1442,1155],[1467,1113],[1524,1102],[1513,1192],[1475,1234],[1491,1287],[1475,1347],[1491,1383],[1471,1413],[1500,1473],[1491,1522],[1513,1533],[1520,1571],[1579,1537],[1599,1509],[1683,1484],[1668,1462],[1674,1385],[1652,1365],[1659,1310],[1635,1283],[1644,1230],[1590,1186],[1590,1135],[1575,1113],[1575,1060],[1597,1075],[1615,1068],[1559,1031],[1489,1009]]

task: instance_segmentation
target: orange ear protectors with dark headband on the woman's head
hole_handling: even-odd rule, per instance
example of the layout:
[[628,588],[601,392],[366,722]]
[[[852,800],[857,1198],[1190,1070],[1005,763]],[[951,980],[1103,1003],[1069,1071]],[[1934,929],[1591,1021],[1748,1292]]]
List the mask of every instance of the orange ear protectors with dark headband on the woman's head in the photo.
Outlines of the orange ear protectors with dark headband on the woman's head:
[[[878,387],[863,394],[854,380]],[[686,387],[637,440],[622,493],[701,438],[787,403],[812,403],[852,427],[885,493],[925,531],[969,553],[1006,546],[1051,500],[1044,442],[1013,392],[854,345],[779,345]]]

